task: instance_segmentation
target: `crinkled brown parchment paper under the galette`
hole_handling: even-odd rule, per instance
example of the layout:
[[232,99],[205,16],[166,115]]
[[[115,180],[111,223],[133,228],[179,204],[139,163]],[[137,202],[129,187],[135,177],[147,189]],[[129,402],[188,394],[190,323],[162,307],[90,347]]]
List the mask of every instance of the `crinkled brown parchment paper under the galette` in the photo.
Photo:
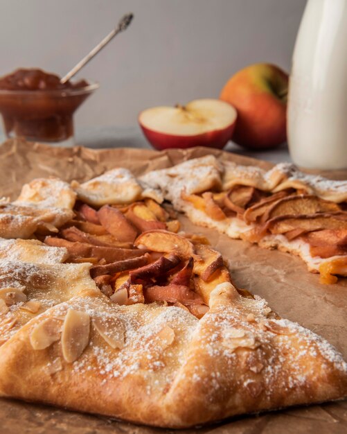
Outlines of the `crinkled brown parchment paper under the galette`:
[[[129,168],[135,175],[140,175],[208,153],[238,164],[252,164],[266,169],[272,166],[269,162],[208,148],[163,152],[134,148],[91,150],[82,147],[51,148],[13,139],[0,146],[0,196],[16,198],[22,184],[35,177],[53,175],[68,182],[73,179],[84,181],[117,166]],[[347,171],[324,172],[323,175],[332,179],[347,179]],[[213,247],[227,259],[235,284],[264,297],[272,309],[284,318],[299,322],[328,339],[347,359],[347,279],[335,285],[321,285],[318,275],[308,272],[299,258],[276,250],[261,249],[244,241],[231,240],[217,234],[213,229],[193,225],[184,216],[181,216],[180,220],[181,229],[208,236]],[[347,400],[234,417],[222,424],[175,431],[136,426],[105,417],[73,413],[12,399],[0,399],[0,434],[174,432],[347,433]]]

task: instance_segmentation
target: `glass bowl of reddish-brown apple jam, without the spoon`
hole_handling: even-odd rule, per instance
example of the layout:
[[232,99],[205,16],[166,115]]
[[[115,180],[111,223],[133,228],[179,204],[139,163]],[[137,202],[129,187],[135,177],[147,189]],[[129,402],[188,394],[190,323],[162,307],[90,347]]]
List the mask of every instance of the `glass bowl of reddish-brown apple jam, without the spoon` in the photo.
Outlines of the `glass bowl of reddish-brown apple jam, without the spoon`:
[[60,83],[41,69],[17,69],[0,78],[0,113],[7,137],[72,146],[73,114],[98,89],[86,80]]

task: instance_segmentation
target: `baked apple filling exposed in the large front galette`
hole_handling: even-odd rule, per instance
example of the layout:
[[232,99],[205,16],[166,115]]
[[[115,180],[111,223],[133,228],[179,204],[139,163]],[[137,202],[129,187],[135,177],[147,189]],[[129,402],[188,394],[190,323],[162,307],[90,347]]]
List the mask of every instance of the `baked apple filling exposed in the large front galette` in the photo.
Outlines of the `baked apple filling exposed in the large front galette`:
[[77,202],[74,211],[43,241],[65,248],[67,262],[92,263],[91,277],[118,305],[157,302],[202,318],[209,286],[230,281],[220,253],[204,238],[177,234],[178,221],[150,198],[99,209]]

